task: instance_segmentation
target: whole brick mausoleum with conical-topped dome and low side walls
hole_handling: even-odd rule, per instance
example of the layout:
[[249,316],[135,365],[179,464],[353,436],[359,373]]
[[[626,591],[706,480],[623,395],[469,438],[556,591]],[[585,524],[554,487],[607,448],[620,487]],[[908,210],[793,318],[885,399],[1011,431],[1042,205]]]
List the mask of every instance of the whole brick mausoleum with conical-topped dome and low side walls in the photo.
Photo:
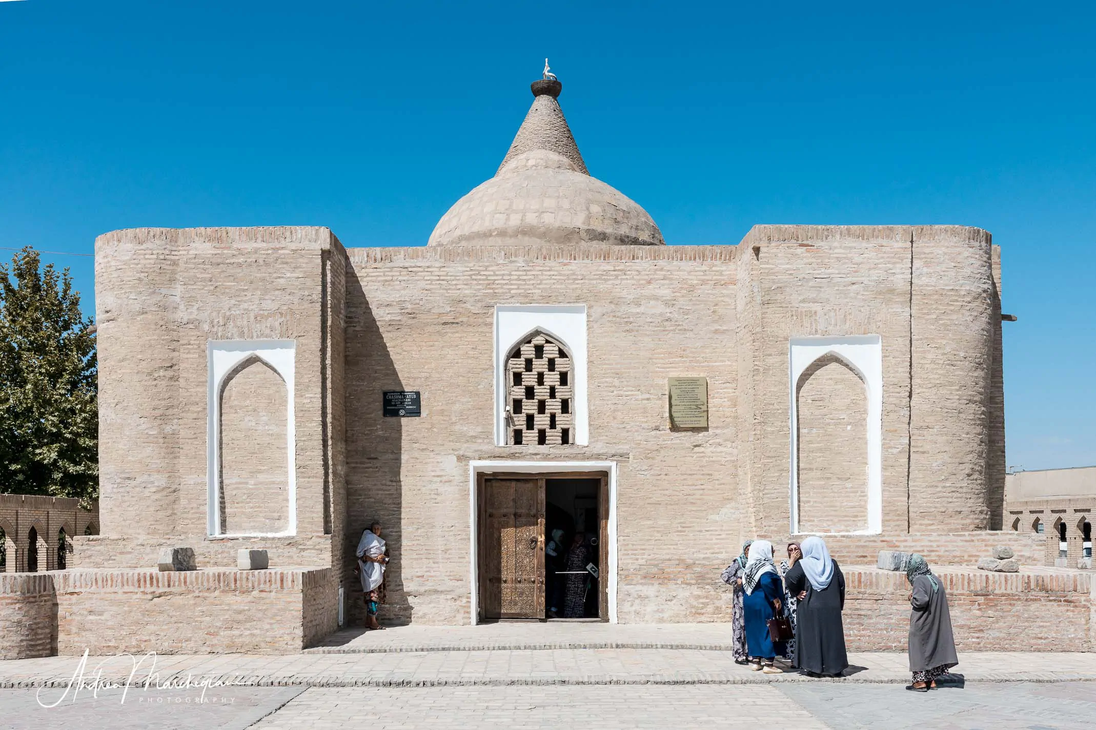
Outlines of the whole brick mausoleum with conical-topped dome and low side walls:
[[[730,621],[741,542],[810,533],[845,566],[853,649],[904,647],[904,576],[856,567],[881,548],[939,566],[961,647],[1091,646],[1089,573],[973,568],[997,544],[1040,565],[1044,542],[1001,532],[990,234],[757,225],[667,246],[589,174],[560,90],[533,84],[498,172],[425,246],[99,237],[102,534],[21,594],[53,601],[53,650],[316,644],[361,619],[372,520],[388,622],[546,617],[553,530],[590,546],[584,615]],[[173,546],[199,569],[157,571]],[[241,547],[271,568],[238,570]]]

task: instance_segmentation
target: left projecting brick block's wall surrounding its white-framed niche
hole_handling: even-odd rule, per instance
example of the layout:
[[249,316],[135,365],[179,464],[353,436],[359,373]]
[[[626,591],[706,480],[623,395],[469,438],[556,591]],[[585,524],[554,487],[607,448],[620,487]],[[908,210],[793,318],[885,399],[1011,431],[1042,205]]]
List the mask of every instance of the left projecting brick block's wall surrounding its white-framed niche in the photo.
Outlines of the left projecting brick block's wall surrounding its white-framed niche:
[[[158,548],[171,545],[221,555],[202,547],[207,343],[294,339],[299,540],[253,546],[270,546],[282,565],[329,567],[330,546],[317,564],[310,538],[330,543],[334,531],[331,406],[339,398],[330,389],[341,354],[332,356],[331,327],[341,325],[332,313],[342,292],[332,296],[324,271],[342,260],[339,241],[306,227],[132,229],[99,236],[95,252],[103,534],[138,540],[141,561],[128,567],[155,565]],[[103,545],[89,545],[81,565],[117,565],[95,549]],[[306,549],[294,555],[298,546]],[[225,549],[231,561],[216,564],[233,565],[236,547]]]

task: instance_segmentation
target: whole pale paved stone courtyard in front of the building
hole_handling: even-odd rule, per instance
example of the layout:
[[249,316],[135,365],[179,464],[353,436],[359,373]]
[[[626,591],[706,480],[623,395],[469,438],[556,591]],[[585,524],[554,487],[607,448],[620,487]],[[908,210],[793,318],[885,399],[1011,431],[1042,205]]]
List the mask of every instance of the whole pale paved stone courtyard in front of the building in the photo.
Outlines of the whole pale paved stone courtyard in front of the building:
[[304,653],[162,656],[136,672],[133,658],[90,657],[82,677],[93,686],[79,693],[70,686],[79,657],[0,661],[0,729],[1048,730],[1096,717],[1096,653],[961,652],[955,685],[918,694],[904,690],[903,653],[850,653],[840,680],[763,675],[733,663],[726,634],[604,624],[347,630]]

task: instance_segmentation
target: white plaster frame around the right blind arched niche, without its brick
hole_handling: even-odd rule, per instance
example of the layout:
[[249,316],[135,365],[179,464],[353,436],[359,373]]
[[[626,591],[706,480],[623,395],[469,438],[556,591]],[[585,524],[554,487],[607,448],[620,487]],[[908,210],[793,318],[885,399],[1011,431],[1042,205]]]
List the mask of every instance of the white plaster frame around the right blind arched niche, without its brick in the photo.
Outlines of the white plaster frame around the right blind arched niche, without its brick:
[[799,531],[799,468],[798,451],[799,414],[797,413],[796,383],[812,362],[826,355],[836,355],[860,375],[868,394],[868,528],[850,533],[814,533],[831,535],[878,535],[883,528],[882,498],[882,410],[883,410],[883,354],[879,335],[849,335],[846,337],[792,337],[788,340],[789,380],[791,402],[789,418],[790,489],[789,518],[792,534]]

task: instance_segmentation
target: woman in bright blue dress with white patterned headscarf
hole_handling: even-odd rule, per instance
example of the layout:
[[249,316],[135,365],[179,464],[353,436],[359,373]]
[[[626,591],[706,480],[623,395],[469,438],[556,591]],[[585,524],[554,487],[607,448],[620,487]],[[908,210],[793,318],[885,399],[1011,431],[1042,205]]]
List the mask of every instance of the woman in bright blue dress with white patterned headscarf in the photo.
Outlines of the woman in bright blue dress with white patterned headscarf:
[[765,674],[783,674],[773,660],[784,653],[768,634],[768,621],[780,615],[784,606],[784,583],[773,564],[773,543],[757,540],[750,545],[750,559],[742,576],[742,613],[746,622],[746,649],[750,669]]

